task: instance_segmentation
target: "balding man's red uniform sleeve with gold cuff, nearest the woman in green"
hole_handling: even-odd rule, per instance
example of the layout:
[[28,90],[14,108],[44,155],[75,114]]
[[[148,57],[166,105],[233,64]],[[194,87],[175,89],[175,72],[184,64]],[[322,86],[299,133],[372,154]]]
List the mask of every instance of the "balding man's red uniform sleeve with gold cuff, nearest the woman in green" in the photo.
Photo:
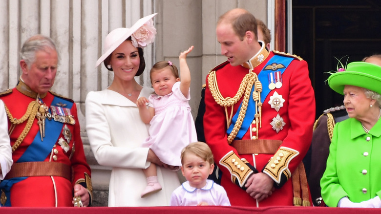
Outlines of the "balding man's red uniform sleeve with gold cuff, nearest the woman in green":
[[[315,121],[315,93],[309,78],[305,61],[294,60],[285,72],[291,72],[287,114],[290,128],[274,158],[262,170],[280,188],[290,179],[291,174],[307,153],[312,139]],[[279,163],[276,163],[276,161]]]

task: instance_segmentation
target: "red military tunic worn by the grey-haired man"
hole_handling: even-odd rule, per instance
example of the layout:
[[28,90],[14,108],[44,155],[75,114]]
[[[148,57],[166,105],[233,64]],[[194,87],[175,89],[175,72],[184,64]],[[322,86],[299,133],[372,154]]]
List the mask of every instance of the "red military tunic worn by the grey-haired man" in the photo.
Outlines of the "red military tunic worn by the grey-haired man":
[[[21,119],[24,114],[28,114],[28,105],[31,102],[36,101],[36,97],[36,93],[31,92],[28,86],[19,81],[18,86],[13,88],[12,91],[9,90],[4,93],[1,96],[1,99],[4,101],[4,104],[11,116],[16,119]],[[15,142],[19,136],[21,136],[28,120],[16,125],[13,130],[13,125],[8,120],[8,127],[11,130],[11,146],[14,146],[16,149],[12,153],[12,158],[14,163],[24,162],[24,160],[27,160],[27,162],[39,161],[40,163],[62,163],[67,166],[66,168],[69,169],[69,173],[66,178],[63,176],[29,176],[26,177],[26,179],[21,179],[21,181],[14,183],[10,189],[10,193],[7,193],[8,204],[6,204],[6,206],[72,207],[73,187],[75,184],[81,184],[84,186],[89,191],[91,200],[92,187],[90,180],[90,167],[86,162],[85,152],[80,136],[80,124],[77,117],[76,105],[72,100],[59,97],[52,92],[48,92],[46,96],[42,96],[41,101],[51,111],[50,106],[54,99],[61,99],[61,101],[67,102],[71,105],[70,108],[65,108],[65,105],[58,104],[58,106],[61,105],[63,107],[61,110],[63,109],[66,115],[72,115],[71,117],[74,120],[71,120],[70,122],[69,120],[65,122],[55,122],[56,124],[58,123],[58,128],[55,130],[49,130],[48,126],[50,126],[51,123],[48,124],[48,119],[45,119],[46,131],[45,137],[43,137],[42,140],[42,147],[48,147],[45,148],[47,154],[46,156],[38,157],[39,155],[42,155],[42,152],[40,153],[40,151],[37,150],[35,151],[36,154],[31,154],[28,158],[22,156],[31,146],[35,138],[41,140],[40,128],[38,125],[39,120],[34,117],[30,130],[27,132],[25,138],[21,141],[17,148],[14,146]],[[55,137],[49,140],[49,137],[52,136],[51,134],[54,134]],[[11,178],[6,177],[2,182],[9,181],[7,179],[11,180]],[[2,189],[2,192],[5,193],[5,189]],[[4,193],[2,193],[3,196],[1,199],[4,199]],[[4,206],[4,204],[1,206]]]

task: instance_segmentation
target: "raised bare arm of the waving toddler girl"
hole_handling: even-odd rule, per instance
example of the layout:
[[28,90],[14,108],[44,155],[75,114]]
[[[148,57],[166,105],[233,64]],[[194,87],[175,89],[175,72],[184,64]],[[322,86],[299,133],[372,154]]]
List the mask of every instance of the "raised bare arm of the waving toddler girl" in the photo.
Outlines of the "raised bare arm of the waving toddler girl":
[[193,50],[193,45],[188,50],[182,52],[179,56],[180,61],[180,91],[185,97],[188,97],[189,87],[191,86],[191,71],[187,64],[187,55]]

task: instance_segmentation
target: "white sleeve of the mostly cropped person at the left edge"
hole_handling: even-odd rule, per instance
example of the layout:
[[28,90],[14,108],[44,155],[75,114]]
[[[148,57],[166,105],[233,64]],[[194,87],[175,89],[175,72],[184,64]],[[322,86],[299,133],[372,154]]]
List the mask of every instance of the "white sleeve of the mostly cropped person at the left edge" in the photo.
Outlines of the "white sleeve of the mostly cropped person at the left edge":
[[0,180],[11,170],[13,164],[12,149],[8,135],[8,120],[4,110],[4,104],[0,100]]

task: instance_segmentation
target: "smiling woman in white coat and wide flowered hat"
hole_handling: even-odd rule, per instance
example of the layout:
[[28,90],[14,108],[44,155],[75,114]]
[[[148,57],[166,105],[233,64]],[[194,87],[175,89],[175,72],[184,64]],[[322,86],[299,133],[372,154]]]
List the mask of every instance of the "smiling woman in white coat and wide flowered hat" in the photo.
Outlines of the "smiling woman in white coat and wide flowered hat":
[[[170,195],[179,185],[177,173],[163,164],[149,148],[141,144],[148,137],[136,101],[148,97],[151,88],[135,81],[145,69],[143,47],[152,43],[156,29],[149,15],[130,28],[117,28],[106,36],[105,53],[96,66],[104,62],[114,72],[111,85],[103,91],[89,92],[86,97],[86,130],[95,158],[102,166],[112,167],[108,206],[167,206]],[[157,166],[162,191],[145,198],[140,193],[147,185],[142,169],[153,162]]]

